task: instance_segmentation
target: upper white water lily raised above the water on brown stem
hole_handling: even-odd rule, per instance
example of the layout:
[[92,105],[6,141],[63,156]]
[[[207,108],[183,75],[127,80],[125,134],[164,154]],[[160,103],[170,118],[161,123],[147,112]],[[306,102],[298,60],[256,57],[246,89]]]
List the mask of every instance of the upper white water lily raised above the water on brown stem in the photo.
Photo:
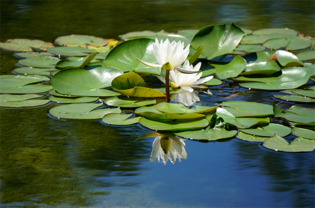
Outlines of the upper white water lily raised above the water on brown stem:
[[[166,39],[164,42],[158,42],[156,38],[156,42],[152,43],[154,54],[159,64],[150,63],[145,60],[138,59],[143,64],[150,67],[163,67],[164,69],[170,70],[174,68],[180,68],[181,64],[185,61],[189,54],[189,46],[184,49],[184,42],[181,41],[172,43]],[[165,65],[166,64],[166,65]],[[166,66],[166,67],[165,67]]]

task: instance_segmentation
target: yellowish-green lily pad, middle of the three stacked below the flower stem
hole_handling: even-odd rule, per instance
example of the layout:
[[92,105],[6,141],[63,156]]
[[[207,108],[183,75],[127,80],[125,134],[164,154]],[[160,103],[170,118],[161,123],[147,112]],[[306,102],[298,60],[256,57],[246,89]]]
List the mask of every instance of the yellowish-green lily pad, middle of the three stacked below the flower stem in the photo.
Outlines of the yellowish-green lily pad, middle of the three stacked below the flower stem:
[[174,114],[174,113],[162,113],[156,109],[156,106],[150,106],[150,107],[141,107],[137,108],[134,113],[138,114],[142,117],[147,117],[149,119],[153,120],[165,120],[165,121],[171,121],[171,120],[181,120],[181,119],[198,119],[203,118],[205,115],[202,114]]

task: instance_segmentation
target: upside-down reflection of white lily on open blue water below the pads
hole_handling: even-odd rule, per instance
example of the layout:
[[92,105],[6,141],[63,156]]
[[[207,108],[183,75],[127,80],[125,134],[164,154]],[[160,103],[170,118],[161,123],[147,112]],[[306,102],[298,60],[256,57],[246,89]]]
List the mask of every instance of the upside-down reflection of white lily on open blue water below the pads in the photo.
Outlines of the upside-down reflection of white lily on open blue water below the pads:
[[150,162],[156,158],[162,158],[164,165],[170,160],[175,163],[176,159],[181,162],[182,158],[187,159],[184,139],[166,135],[158,136],[153,142]]

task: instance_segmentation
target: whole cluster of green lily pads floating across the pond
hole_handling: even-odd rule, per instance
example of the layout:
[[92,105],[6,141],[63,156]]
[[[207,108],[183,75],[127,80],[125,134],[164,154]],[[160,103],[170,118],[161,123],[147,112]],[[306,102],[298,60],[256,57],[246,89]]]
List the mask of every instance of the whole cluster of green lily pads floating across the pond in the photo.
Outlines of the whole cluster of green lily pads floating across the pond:
[[[166,39],[190,49],[186,68],[201,62],[200,71],[181,72],[181,66],[179,72],[176,67],[167,70],[188,79],[216,78],[190,84],[176,83],[174,78],[165,89],[168,72],[161,69],[169,65],[159,63],[154,44]],[[16,52],[22,67],[13,71],[19,75],[0,75],[0,107],[29,108],[53,102],[61,104],[49,110],[56,119],[139,123],[171,138],[217,141],[236,136],[277,151],[313,151],[314,108],[294,105],[282,109],[276,104],[245,101],[210,103],[200,101],[194,89],[211,96],[209,86],[230,80],[247,89],[282,90],[283,95],[274,97],[284,102],[314,103],[314,45],[314,37],[296,30],[252,31],[234,24],[229,29],[217,25],[175,33],[129,32],[121,40],[68,35],[58,37],[55,45],[12,39],[0,43],[0,48]],[[170,102],[164,101],[166,91],[170,91]],[[274,122],[277,119],[286,126]],[[287,141],[283,138],[287,135],[296,138]]]

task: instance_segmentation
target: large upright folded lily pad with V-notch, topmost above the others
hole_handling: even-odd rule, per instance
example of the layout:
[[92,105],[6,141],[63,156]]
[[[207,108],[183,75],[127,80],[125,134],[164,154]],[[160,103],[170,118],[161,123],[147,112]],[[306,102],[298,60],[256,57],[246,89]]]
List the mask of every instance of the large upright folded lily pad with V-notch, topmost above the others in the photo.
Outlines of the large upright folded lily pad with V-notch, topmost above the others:
[[195,34],[190,44],[196,50],[203,46],[202,54],[210,60],[233,51],[244,35],[233,23],[226,34],[225,25],[207,26]]

